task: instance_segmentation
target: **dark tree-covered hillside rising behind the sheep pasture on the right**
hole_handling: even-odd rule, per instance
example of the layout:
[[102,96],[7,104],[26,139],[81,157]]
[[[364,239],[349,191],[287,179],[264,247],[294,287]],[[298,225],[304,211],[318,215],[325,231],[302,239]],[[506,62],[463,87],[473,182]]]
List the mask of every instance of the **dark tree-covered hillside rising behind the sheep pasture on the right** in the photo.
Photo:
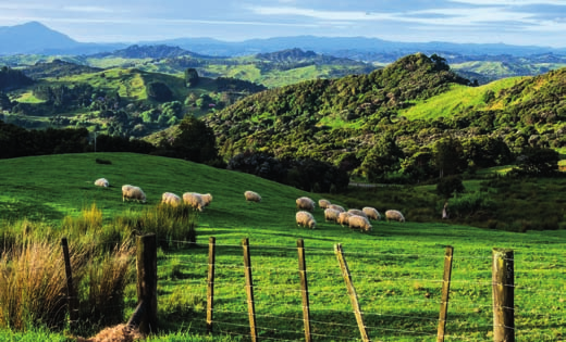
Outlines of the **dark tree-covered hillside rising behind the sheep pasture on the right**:
[[471,86],[444,59],[414,54],[369,75],[263,91],[207,122],[225,159],[245,151],[313,157],[381,181],[426,180],[514,162],[528,148],[566,145],[566,69],[497,92],[487,87],[479,103],[450,115],[399,115],[455,85]]

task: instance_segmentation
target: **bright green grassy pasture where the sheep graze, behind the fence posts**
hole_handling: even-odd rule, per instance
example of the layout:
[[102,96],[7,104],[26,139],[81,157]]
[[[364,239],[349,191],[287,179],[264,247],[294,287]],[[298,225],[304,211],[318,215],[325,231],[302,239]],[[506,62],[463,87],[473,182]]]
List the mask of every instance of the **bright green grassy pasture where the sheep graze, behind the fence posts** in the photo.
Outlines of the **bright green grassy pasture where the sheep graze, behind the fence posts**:
[[[111,164],[98,164],[96,159]],[[309,230],[295,225],[294,200],[300,195],[318,200],[319,194],[250,175],[131,153],[1,160],[0,176],[2,220],[28,217],[56,229],[65,216],[77,217],[93,203],[102,211],[104,220],[110,221],[124,213],[135,214],[156,205],[165,191],[212,193],[211,206],[198,217],[198,246],[159,251],[159,319],[163,331],[150,341],[206,340],[209,237],[217,239],[216,341],[248,340],[241,246],[244,238],[250,243],[257,326],[263,340],[304,338],[297,291],[298,239],[306,246],[316,340],[359,339],[333,252],[336,243],[346,253],[366,326],[374,341],[435,341],[446,245],[454,246],[446,341],[493,340],[493,248],[515,251],[517,339],[562,341],[566,333],[565,230],[513,233],[444,223],[415,223],[409,218],[405,224],[373,223],[371,232],[361,233],[325,223],[320,208],[315,212],[318,227]],[[93,182],[99,177],[109,179],[111,187],[95,187]],[[148,202],[123,203],[124,183],[140,186]],[[245,190],[259,192],[262,202],[245,202]],[[343,205],[346,202],[342,198],[330,200]],[[392,207],[395,201],[389,200]],[[361,204],[362,200],[358,202]],[[135,296],[135,286],[128,293]],[[29,335],[64,341],[61,333],[37,329],[28,334],[5,331],[0,333],[0,341],[30,341]]]

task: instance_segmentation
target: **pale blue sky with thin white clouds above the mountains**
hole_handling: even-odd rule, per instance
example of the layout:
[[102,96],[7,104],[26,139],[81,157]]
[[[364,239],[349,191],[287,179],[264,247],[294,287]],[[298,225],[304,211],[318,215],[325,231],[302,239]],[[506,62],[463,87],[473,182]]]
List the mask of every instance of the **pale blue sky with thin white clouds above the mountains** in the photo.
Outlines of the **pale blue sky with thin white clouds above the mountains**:
[[82,42],[324,36],[566,48],[566,0],[0,0]]

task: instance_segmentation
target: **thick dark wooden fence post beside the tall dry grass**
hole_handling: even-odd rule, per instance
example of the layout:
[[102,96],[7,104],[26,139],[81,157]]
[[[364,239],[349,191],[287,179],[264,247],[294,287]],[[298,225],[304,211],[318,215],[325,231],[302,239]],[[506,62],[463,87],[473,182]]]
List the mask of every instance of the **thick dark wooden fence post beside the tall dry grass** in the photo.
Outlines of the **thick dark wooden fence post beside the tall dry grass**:
[[[157,237],[155,233],[136,239],[137,301],[131,325],[144,333],[157,331]],[[140,316],[138,318],[138,316]]]

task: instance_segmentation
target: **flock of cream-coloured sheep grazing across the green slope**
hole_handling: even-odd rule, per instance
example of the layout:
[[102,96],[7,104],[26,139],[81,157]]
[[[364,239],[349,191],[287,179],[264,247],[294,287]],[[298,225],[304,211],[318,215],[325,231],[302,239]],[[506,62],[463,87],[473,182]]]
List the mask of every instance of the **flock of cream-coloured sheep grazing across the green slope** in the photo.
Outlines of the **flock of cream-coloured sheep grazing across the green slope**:
[[[99,178],[95,181],[95,185],[107,188],[110,186],[110,182],[106,178]],[[254,191],[244,192],[244,198],[246,201],[261,202],[261,197]],[[122,186],[122,201],[126,200],[146,203],[146,194],[139,187],[125,185]],[[177,206],[181,203],[185,203],[199,212],[202,212],[211,202],[212,195],[210,193],[185,192],[183,197],[179,197],[172,192],[163,192],[161,197],[161,203],[163,204]],[[325,221],[334,221],[343,227],[348,226],[352,229],[360,229],[361,231],[370,231],[372,229],[370,220],[379,220],[381,218],[380,213],[370,206],[366,206],[362,210],[350,208],[346,211],[343,206],[332,204],[328,200],[320,200],[318,205],[324,210]],[[295,215],[297,225],[311,229],[316,228],[317,221],[311,214],[316,207],[315,201],[307,197],[298,198],[296,200],[296,207],[298,210]],[[385,218],[399,223],[405,221],[403,214],[394,210],[386,211]]]

